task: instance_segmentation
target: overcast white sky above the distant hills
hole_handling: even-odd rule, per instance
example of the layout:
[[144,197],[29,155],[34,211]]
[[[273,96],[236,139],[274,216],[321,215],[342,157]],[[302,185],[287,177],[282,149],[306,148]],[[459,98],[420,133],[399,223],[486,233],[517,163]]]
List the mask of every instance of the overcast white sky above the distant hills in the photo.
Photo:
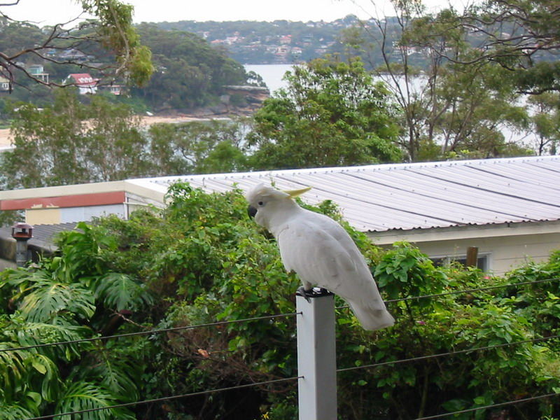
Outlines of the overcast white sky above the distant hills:
[[[388,0],[124,0],[134,6],[134,22],[176,22],[178,20],[325,20],[353,14],[358,18],[394,15]],[[451,1],[461,7],[468,0],[424,0],[433,10]],[[3,3],[9,3],[4,1]],[[10,18],[52,25],[76,18],[76,0],[20,0],[17,6],[0,11]]]

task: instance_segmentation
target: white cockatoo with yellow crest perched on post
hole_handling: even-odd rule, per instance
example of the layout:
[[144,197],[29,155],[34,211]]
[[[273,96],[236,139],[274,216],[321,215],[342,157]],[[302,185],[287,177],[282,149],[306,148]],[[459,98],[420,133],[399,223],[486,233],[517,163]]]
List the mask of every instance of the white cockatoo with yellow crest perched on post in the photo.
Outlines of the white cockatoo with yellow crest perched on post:
[[309,189],[255,186],[246,195],[248,214],[276,238],[284,267],[300,276],[300,294],[312,295],[313,286],[325,288],[348,302],[366,330],[393,325],[395,320],[350,235],[328,216],[302,209],[293,200]]

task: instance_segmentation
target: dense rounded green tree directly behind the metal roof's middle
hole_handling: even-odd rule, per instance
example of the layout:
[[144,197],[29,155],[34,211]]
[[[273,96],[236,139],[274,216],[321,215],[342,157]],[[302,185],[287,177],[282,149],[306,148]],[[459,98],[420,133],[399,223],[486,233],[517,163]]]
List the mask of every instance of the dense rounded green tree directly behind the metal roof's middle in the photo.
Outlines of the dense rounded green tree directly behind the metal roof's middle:
[[359,165],[400,160],[398,110],[359,59],[295,66],[288,87],[265,100],[248,144],[257,169]]

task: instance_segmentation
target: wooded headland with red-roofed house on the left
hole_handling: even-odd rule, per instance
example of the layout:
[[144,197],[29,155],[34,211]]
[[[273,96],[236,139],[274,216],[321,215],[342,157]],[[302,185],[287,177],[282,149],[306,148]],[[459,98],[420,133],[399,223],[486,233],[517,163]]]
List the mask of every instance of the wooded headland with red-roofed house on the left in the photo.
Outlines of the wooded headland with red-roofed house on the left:
[[[10,77],[0,78],[0,118],[8,118],[10,104],[31,102],[52,104],[53,87],[75,88],[83,102],[92,95],[104,95],[125,102],[137,113],[183,112],[205,109],[208,113],[251,108],[264,92],[235,89],[248,84],[244,67],[214,48],[200,36],[185,31],[166,31],[155,25],[139,25],[142,42],[151,49],[155,71],[142,86],[132,86],[115,76],[115,57],[108,50],[85,40],[69,48],[64,40],[49,41],[48,29],[19,22],[4,22],[0,50],[18,55],[10,66]],[[13,41],[15,40],[15,41]],[[19,40],[19,41],[18,41]],[[41,54],[26,52],[25,40],[41,47]],[[249,101],[246,97],[251,97]],[[231,101],[230,101],[231,99]],[[214,109],[209,109],[212,107]]]

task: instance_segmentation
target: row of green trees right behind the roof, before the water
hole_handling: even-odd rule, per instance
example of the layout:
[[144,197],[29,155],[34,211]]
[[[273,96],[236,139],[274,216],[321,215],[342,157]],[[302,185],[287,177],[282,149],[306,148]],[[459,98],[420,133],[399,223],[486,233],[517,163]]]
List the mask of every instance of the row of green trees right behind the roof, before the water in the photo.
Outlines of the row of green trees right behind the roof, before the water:
[[[52,105],[12,109],[15,148],[1,155],[1,188],[535,153],[529,146],[554,153],[557,93],[531,98],[531,115],[499,66],[476,77],[438,71],[437,83],[405,97],[372,83],[357,57],[326,56],[296,66],[251,118],[149,128],[112,96],[60,90]],[[506,139],[504,125],[534,127],[540,144]]]

